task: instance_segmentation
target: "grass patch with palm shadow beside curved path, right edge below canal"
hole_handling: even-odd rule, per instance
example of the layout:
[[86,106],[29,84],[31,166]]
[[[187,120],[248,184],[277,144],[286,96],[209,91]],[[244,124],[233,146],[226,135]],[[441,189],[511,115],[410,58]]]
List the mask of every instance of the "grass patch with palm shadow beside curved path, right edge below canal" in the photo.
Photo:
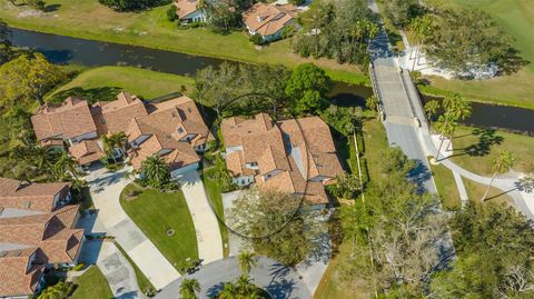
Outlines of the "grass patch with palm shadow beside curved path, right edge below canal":
[[527,172],[534,168],[534,138],[523,134],[459,127],[453,139],[453,161],[482,176],[491,176],[492,162],[503,150],[511,151],[517,160],[515,171]]

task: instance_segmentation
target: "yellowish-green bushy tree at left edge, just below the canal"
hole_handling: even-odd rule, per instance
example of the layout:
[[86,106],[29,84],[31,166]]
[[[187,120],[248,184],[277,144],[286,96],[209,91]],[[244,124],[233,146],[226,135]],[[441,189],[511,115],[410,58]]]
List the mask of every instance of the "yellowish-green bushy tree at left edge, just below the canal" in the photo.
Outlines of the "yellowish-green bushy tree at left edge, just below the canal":
[[37,100],[44,104],[44,94],[66,78],[65,72],[40,53],[22,54],[0,67],[2,106],[19,100]]

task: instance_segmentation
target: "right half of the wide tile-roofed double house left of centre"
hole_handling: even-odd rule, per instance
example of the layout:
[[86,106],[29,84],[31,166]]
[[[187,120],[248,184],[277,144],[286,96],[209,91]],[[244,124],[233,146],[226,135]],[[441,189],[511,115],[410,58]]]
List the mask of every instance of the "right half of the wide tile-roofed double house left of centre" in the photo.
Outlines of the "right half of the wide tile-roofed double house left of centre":
[[197,152],[206,149],[210,133],[195,101],[179,97],[149,108],[150,113],[134,118],[126,131],[134,168],[141,168],[146,158],[158,153],[170,166],[172,178],[197,169]]

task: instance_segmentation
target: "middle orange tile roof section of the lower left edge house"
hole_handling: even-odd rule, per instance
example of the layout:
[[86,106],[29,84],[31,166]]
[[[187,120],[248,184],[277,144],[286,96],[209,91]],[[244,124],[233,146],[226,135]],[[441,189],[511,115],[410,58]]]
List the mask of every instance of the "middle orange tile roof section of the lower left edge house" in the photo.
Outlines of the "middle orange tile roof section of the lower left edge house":
[[55,212],[0,219],[0,243],[38,247],[49,263],[76,260],[83,229],[73,229],[78,205]]

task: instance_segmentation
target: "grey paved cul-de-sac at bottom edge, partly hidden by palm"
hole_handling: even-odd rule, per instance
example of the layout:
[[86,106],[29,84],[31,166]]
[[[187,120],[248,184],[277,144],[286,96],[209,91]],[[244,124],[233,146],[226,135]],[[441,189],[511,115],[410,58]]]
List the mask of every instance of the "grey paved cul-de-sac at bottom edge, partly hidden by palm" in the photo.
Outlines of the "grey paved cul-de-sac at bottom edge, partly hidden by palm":
[[[198,272],[187,276],[200,282],[199,298],[212,298],[222,288],[221,282],[231,281],[240,275],[236,258],[227,258],[204,266]],[[259,258],[258,266],[253,269],[250,277],[254,283],[267,290],[273,299],[309,299],[312,293],[297,275],[277,261]],[[174,281],[156,299],[180,298],[179,289],[181,279]]]

